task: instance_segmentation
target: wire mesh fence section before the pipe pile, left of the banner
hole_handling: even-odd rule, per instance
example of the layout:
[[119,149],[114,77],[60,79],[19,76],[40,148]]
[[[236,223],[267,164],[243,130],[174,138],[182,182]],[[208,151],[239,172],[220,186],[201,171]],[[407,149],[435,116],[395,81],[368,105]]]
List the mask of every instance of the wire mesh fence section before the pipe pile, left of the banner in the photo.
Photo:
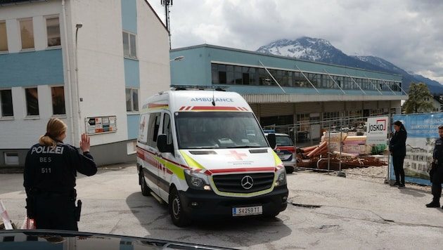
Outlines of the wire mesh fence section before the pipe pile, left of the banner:
[[[391,118],[385,124],[387,136],[380,144],[366,143],[366,124],[371,117],[345,117],[328,121],[309,121],[290,125],[264,126],[286,133],[293,140],[297,170],[368,175],[389,181],[390,157],[387,149]],[[354,171],[369,168],[371,171]]]

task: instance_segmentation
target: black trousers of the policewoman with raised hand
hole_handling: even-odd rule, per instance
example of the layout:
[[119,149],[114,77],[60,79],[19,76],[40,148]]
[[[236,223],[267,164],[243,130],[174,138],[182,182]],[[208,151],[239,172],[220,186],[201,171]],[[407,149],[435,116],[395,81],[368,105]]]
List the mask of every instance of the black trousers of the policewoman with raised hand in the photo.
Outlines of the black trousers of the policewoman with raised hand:
[[35,212],[37,229],[79,230],[75,215],[75,198],[68,195],[36,195]]

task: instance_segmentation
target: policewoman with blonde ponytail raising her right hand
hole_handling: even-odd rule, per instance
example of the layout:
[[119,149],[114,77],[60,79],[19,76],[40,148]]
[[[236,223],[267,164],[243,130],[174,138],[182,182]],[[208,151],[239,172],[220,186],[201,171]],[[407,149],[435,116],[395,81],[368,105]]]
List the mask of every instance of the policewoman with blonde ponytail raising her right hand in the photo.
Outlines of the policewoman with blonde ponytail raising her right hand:
[[37,229],[78,230],[81,201],[75,205],[77,172],[86,176],[97,173],[85,133],[76,147],[63,143],[68,126],[51,118],[46,133],[27,152],[23,173],[27,194],[27,216],[34,218]]

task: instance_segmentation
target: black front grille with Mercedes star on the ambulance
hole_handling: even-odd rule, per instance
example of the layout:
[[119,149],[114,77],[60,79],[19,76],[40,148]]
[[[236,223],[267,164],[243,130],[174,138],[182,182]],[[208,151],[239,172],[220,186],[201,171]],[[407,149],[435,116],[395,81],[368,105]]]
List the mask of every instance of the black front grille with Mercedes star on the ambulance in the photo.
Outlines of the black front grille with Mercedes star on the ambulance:
[[[250,178],[246,177],[250,176]],[[241,174],[225,174],[212,176],[217,190],[220,192],[233,192],[248,194],[251,192],[258,192],[267,190],[274,182],[274,173],[241,173]],[[249,189],[248,180],[252,179],[252,187]],[[243,184],[242,185],[242,180]],[[243,187],[245,186],[245,187]]]

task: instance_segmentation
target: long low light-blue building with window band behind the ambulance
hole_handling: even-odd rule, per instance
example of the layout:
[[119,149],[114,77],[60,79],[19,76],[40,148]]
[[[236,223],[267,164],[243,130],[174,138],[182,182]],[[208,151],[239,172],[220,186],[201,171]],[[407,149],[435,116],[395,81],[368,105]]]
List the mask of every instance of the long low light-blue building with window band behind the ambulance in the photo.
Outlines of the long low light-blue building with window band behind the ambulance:
[[[300,139],[363,117],[400,114],[402,76],[212,45],[171,50],[174,85],[223,86],[240,93],[262,126]],[[345,122],[345,124],[342,124]]]

